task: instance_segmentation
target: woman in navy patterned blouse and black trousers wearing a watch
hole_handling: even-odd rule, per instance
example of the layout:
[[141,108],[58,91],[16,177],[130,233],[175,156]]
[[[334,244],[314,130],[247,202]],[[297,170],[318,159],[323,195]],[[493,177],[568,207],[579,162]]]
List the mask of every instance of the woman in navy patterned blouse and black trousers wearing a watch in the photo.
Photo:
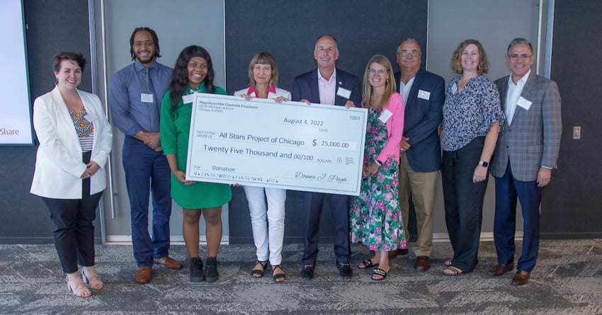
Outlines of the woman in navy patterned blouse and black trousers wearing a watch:
[[443,105],[443,199],[454,255],[445,275],[470,273],[477,265],[489,160],[504,125],[495,84],[487,79],[487,55],[477,40],[465,40],[452,57],[452,79]]

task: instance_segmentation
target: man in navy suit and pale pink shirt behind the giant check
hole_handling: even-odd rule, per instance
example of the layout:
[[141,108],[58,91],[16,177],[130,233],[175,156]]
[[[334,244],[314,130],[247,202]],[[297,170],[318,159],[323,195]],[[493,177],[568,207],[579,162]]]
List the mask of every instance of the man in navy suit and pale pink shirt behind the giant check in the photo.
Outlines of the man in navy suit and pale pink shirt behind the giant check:
[[[361,82],[357,76],[336,69],[339,49],[336,40],[330,35],[322,35],[316,42],[314,58],[317,69],[297,76],[293,81],[292,101],[321,103],[329,105],[360,105],[362,92]],[[320,215],[324,205],[324,193],[304,195],[305,201],[305,233],[301,277],[314,277],[314,268],[318,256],[318,232]],[[351,277],[349,265],[349,205],[348,196],[328,194],[334,223],[334,253],[336,267],[343,277]]]

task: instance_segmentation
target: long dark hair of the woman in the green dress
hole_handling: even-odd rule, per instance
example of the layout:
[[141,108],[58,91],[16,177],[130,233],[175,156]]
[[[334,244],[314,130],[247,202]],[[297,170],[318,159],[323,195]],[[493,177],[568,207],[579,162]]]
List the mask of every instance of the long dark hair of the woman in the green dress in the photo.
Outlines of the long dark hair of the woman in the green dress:
[[193,57],[201,57],[207,61],[207,77],[201,84],[205,84],[206,93],[215,93],[215,86],[213,85],[215,72],[213,71],[213,63],[209,52],[200,46],[188,46],[180,52],[178,59],[176,59],[174,71],[171,72],[169,93],[171,93],[171,109],[174,112],[178,108],[178,103],[180,103],[184,91],[186,91],[186,86],[188,86],[188,62]]

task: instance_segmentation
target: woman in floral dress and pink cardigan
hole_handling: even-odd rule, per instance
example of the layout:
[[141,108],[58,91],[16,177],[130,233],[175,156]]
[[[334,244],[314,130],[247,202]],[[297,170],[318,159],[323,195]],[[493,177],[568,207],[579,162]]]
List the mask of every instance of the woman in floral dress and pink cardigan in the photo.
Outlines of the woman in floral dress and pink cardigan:
[[360,195],[351,200],[351,242],[374,251],[358,268],[378,267],[373,280],[389,273],[388,252],[406,248],[397,195],[399,143],[404,130],[404,101],[387,57],[370,58],[363,78],[363,106],[368,108]]

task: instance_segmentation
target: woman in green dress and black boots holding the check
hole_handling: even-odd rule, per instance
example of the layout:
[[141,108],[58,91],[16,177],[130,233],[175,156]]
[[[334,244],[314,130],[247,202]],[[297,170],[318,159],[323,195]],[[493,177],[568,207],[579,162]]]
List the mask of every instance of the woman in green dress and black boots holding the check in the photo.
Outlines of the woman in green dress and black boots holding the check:
[[[199,46],[184,48],[176,60],[169,91],[161,103],[161,145],[171,169],[171,197],[183,211],[183,236],[191,256],[192,282],[215,282],[219,277],[217,252],[222,241],[222,205],[232,199],[229,185],[186,180],[193,105],[193,98],[186,96],[195,92],[227,95],[223,88],[213,85],[214,76],[207,50]],[[201,213],[205,218],[208,248],[205,273],[203,261],[198,257]]]

